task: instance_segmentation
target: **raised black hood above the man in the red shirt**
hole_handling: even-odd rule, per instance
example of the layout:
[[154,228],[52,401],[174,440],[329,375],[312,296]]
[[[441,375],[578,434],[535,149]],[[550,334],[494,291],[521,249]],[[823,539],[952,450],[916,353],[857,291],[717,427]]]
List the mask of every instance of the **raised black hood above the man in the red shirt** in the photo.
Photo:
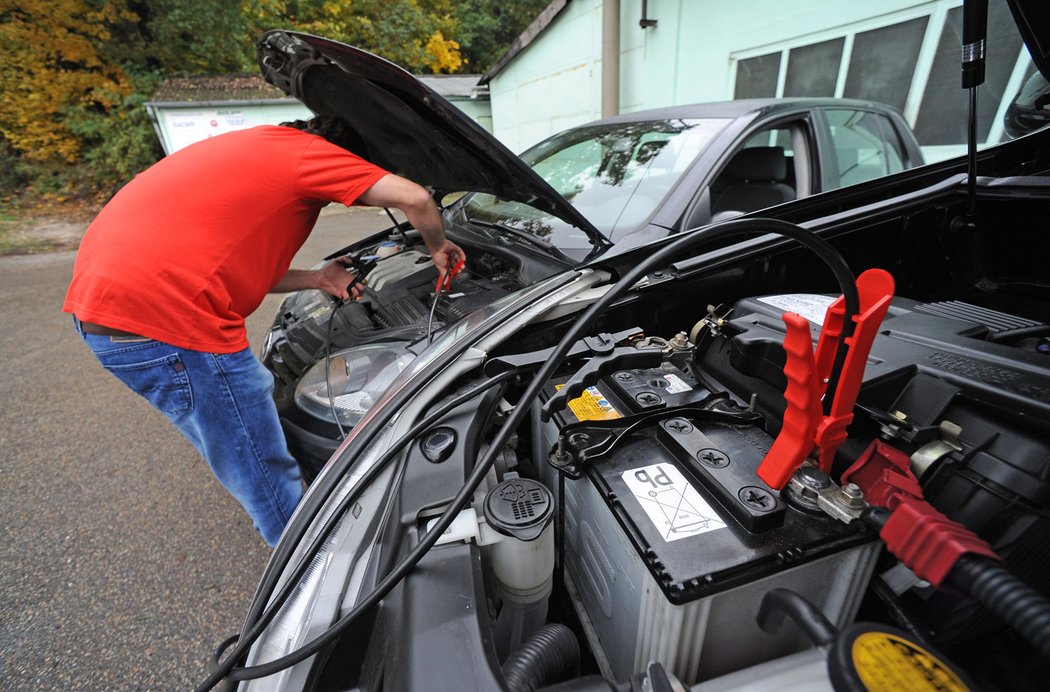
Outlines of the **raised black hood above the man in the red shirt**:
[[434,190],[488,192],[546,211],[611,243],[491,134],[413,75],[371,53],[296,32],[267,32],[262,77],[318,114],[344,118],[372,163]]

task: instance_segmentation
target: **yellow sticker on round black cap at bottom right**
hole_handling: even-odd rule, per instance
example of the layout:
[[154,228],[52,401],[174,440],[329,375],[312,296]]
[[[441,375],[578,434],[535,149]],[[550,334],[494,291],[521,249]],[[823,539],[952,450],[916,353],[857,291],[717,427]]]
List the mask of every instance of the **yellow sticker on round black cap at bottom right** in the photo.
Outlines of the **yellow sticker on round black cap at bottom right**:
[[941,659],[889,632],[864,632],[853,644],[853,663],[868,690],[969,690]]

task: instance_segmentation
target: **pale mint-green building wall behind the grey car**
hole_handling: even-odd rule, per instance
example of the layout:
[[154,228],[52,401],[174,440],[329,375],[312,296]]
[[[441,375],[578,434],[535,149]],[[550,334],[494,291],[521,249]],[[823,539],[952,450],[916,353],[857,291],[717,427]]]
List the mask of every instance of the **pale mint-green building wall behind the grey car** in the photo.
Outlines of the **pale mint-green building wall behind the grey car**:
[[[958,84],[959,43],[950,40],[950,34],[957,29],[952,22],[962,0],[649,0],[647,16],[657,23],[648,28],[639,26],[642,4],[642,0],[620,0],[620,112],[733,99],[741,62],[777,53],[783,55],[777,92],[759,96],[791,96],[785,91],[791,50],[822,42],[841,46],[843,58],[840,66],[836,64],[839,74],[832,76],[834,92],[821,96],[849,96],[846,87],[850,80],[856,83],[849,51],[880,29],[903,24],[918,27],[914,70],[907,76],[910,86],[898,105],[908,122],[922,125],[926,90],[938,84],[944,88],[945,70],[954,70],[949,77]],[[512,151],[601,117],[602,7],[603,0],[570,0],[524,50],[490,77],[492,131]],[[998,57],[1001,74],[989,76],[989,81],[998,80],[995,84],[982,87],[994,99],[986,104],[984,116],[990,123],[985,131],[988,143],[1001,140],[1002,110],[1031,72],[1015,29],[1006,26],[1010,23],[1006,3],[991,3],[991,13],[989,66]],[[1006,20],[996,23],[996,13],[1000,19],[1006,13]],[[1002,36],[995,35],[996,26]],[[1004,55],[991,54],[996,46]],[[945,50],[950,53],[947,58],[941,55]],[[957,91],[948,97],[965,98],[962,89]],[[950,129],[950,141],[931,137],[929,144],[924,143],[928,160],[964,150],[965,138],[956,138],[957,129]]]

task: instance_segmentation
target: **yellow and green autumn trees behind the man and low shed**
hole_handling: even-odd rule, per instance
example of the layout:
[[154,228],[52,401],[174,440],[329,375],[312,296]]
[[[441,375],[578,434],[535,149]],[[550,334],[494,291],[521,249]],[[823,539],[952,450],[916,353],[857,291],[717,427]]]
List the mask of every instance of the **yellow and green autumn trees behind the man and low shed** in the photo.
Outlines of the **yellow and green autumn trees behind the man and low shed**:
[[[0,0],[0,201],[109,194],[161,155],[143,103],[166,77],[254,71],[290,28],[411,71],[478,71],[547,0]],[[460,44],[462,34],[471,45]]]

